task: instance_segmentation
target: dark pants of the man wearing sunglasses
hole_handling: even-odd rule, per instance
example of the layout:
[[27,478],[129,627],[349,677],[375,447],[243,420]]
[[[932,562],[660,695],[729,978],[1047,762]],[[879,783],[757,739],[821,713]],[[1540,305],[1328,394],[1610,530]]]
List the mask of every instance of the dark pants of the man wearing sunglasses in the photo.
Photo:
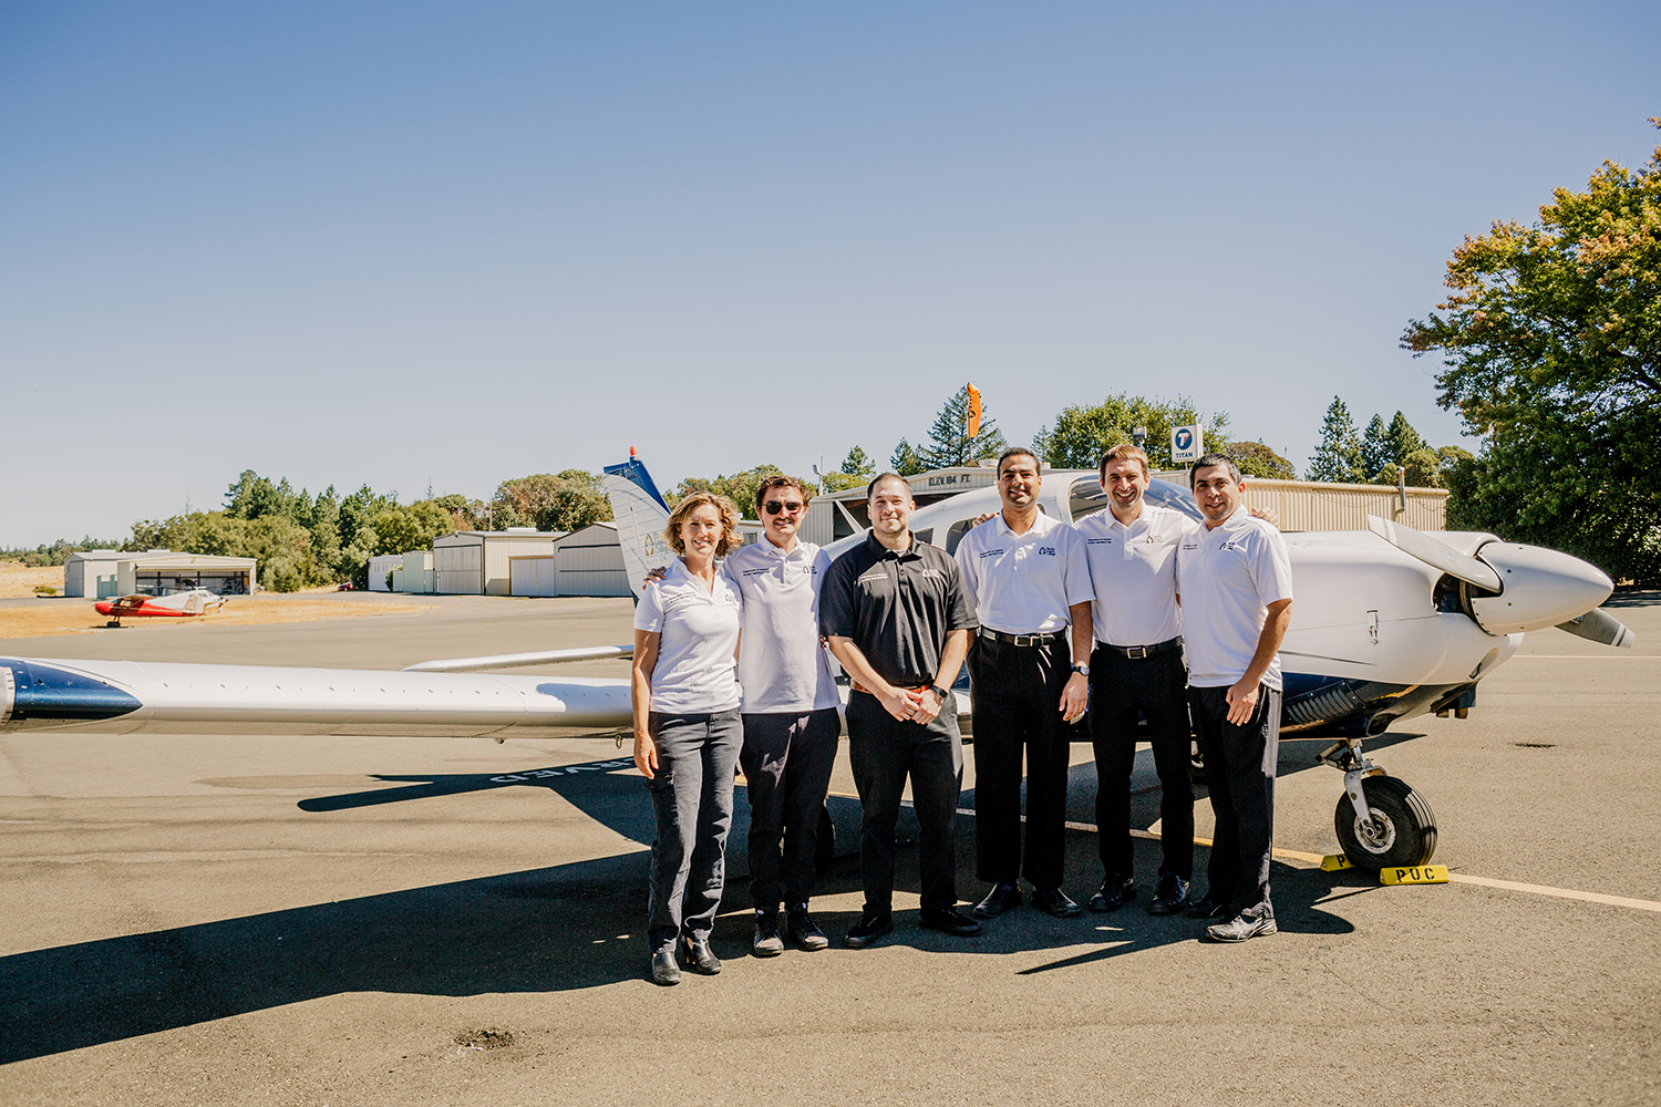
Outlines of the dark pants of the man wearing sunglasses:
[[746,712],[737,763],[749,793],[749,895],[756,909],[807,903],[814,891],[819,813],[842,737],[835,707]]

